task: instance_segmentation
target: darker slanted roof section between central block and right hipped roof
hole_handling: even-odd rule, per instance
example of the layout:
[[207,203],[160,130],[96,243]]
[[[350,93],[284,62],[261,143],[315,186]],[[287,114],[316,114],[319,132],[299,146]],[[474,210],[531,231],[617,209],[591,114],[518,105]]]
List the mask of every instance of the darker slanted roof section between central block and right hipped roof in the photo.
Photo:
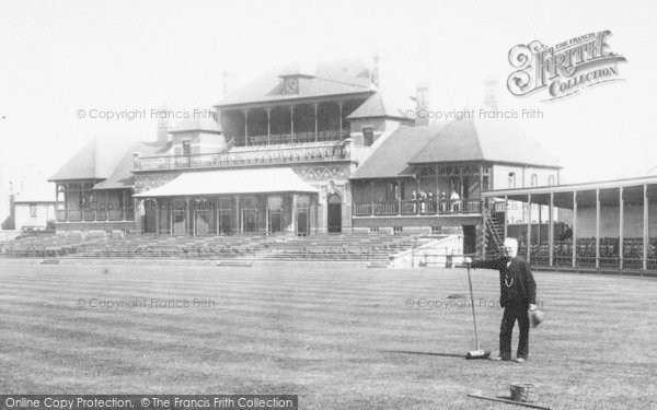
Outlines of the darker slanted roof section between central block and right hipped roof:
[[436,137],[442,127],[442,124],[428,127],[400,126],[356,169],[351,179],[410,175],[408,160]]

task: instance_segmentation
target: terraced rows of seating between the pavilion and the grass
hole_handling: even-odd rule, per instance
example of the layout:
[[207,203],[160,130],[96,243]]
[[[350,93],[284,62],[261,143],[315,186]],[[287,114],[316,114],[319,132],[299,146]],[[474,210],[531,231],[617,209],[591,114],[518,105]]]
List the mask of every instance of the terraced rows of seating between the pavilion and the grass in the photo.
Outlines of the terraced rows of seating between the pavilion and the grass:
[[311,259],[389,260],[408,249],[410,235],[311,235],[295,236],[157,236],[125,237],[39,236],[1,244],[0,255],[14,257],[76,258],[195,258],[195,259]]

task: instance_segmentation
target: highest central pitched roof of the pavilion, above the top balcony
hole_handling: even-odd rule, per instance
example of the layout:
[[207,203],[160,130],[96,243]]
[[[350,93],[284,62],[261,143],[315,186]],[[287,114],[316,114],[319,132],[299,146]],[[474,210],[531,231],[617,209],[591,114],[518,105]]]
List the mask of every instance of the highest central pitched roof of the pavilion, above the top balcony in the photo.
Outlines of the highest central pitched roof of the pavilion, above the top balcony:
[[270,70],[251,83],[229,93],[218,106],[309,98],[326,95],[372,92],[370,69],[365,59],[320,62],[313,75],[299,74],[299,94],[284,94],[281,75],[300,73],[296,65]]

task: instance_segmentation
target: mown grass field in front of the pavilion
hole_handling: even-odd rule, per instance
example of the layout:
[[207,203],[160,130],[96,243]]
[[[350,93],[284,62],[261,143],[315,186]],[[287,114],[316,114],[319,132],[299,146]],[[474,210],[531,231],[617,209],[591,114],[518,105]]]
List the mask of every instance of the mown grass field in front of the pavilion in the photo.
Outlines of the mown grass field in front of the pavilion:
[[[301,409],[512,409],[466,394],[508,395],[519,380],[538,384],[554,409],[657,408],[654,279],[535,272],[548,319],[521,365],[463,359],[470,306],[445,305],[468,294],[462,269],[65,263],[0,260],[2,394],[270,393],[298,394]],[[485,300],[475,302],[480,337],[495,351],[497,272],[473,273]],[[107,309],[90,300],[146,302]],[[417,306],[429,301],[442,306]]]

